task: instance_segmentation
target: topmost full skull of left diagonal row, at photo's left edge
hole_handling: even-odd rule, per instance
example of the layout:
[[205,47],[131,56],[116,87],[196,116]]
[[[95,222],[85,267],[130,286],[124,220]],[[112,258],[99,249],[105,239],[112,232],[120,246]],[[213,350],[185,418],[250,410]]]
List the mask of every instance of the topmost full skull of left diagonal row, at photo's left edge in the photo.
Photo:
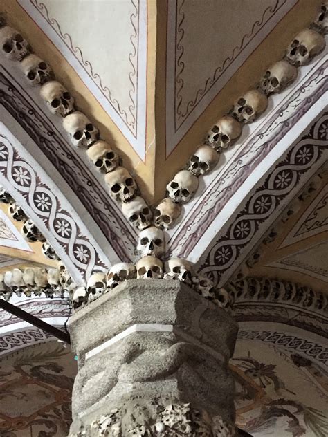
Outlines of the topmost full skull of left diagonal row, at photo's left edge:
[[30,53],[28,41],[9,26],[0,29],[0,46],[2,53],[12,61],[21,61]]

